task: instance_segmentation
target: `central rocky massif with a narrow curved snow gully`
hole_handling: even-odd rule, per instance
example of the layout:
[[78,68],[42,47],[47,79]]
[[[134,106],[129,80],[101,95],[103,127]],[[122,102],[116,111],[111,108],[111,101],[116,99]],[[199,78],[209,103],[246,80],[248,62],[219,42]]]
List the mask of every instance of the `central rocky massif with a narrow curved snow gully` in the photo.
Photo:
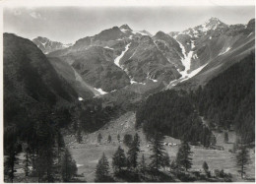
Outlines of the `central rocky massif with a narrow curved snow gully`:
[[[128,25],[113,27],[81,38],[72,47],[48,56],[68,62],[84,81],[105,92],[132,84],[168,84],[180,76],[175,65],[182,68],[180,53],[176,53],[181,49],[177,41],[167,34],[166,41],[158,36],[153,39],[149,34],[148,31],[133,31]],[[163,47],[167,45],[167,50],[162,44]],[[114,79],[115,83],[110,83]]]

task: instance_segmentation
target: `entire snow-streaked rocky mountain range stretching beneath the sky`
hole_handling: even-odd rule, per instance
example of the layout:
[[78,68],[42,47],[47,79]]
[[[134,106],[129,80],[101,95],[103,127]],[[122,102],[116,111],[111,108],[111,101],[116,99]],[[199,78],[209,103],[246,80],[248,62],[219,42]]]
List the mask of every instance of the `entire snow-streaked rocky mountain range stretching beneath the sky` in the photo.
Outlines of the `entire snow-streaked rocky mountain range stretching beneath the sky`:
[[[6,44],[10,37],[22,40],[5,34]],[[68,46],[40,36],[32,42],[42,52],[41,62],[50,63],[81,99],[118,92],[141,95],[204,86],[255,49],[255,19],[245,25],[226,25],[211,18],[195,28],[155,35],[122,25]],[[28,57],[33,60],[32,55]]]

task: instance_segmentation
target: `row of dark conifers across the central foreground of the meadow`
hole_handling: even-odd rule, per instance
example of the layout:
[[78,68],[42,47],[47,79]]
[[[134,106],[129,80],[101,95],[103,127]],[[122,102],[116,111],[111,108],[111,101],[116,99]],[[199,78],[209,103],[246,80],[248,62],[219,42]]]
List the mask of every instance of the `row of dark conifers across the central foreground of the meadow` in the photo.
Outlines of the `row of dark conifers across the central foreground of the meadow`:
[[[95,181],[113,182],[115,179],[129,182],[160,181],[162,179],[165,182],[173,181],[173,178],[165,174],[163,170],[168,170],[167,168],[170,168],[171,164],[175,164],[180,171],[190,169],[192,166],[190,146],[187,142],[183,142],[176,159],[171,163],[169,155],[164,149],[163,139],[164,136],[160,133],[156,133],[151,138],[151,154],[147,160],[145,154],[141,154],[140,137],[135,134],[131,144],[127,146],[127,153],[119,146],[113,154],[111,161],[113,175],[110,174],[109,161],[106,155],[102,153],[96,165]],[[139,158],[140,154],[141,158]]]

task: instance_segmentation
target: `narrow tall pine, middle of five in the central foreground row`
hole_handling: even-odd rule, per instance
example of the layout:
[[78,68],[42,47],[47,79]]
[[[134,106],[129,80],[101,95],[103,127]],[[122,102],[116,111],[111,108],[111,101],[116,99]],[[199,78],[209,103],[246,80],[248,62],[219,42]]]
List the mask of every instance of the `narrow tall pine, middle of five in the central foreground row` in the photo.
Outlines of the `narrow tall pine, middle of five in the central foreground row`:
[[140,138],[139,135],[136,133],[134,136],[133,142],[129,148],[129,151],[127,153],[127,161],[128,161],[128,166],[132,166],[134,169],[138,165],[138,154],[140,152]]

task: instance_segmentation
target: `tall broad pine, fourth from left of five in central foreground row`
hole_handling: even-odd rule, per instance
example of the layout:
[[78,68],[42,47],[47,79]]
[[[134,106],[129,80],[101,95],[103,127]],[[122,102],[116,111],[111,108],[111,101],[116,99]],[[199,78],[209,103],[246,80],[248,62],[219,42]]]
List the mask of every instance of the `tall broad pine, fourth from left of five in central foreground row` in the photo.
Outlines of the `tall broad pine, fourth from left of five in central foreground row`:
[[163,147],[163,139],[164,137],[160,133],[156,133],[154,138],[151,139],[151,144],[152,144],[152,155],[150,156],[151,163],[150,167],[153,169],[159,170],[160,167],[165,166],[165,159],[164,159],[164,153],[165,149]]

